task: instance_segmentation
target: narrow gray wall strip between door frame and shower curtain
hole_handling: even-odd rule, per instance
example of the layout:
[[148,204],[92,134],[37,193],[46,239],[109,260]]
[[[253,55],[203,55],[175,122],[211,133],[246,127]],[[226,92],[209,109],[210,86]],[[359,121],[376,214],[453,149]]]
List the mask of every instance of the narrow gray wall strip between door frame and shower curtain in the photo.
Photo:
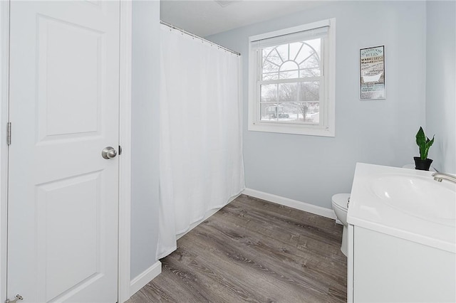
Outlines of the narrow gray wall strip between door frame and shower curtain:
[[158,235],[160,1],[133,1],[131,277],[155,263]]

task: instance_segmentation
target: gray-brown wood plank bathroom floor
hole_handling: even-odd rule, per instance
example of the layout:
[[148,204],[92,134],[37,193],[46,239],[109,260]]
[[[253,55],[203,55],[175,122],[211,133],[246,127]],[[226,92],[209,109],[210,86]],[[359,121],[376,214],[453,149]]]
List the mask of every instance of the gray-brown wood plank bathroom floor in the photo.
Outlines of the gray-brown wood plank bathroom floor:
[[128,303],[346,302],[342,226],[239,196],[177,241]]

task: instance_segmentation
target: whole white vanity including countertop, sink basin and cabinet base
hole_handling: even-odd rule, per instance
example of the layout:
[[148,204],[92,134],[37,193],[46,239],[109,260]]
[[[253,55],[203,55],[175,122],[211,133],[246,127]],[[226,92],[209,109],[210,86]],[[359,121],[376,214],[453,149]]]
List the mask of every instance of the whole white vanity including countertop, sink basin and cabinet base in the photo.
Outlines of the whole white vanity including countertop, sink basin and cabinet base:
[[456,302],[456,184],[358,163],[347,222],[348,302]]

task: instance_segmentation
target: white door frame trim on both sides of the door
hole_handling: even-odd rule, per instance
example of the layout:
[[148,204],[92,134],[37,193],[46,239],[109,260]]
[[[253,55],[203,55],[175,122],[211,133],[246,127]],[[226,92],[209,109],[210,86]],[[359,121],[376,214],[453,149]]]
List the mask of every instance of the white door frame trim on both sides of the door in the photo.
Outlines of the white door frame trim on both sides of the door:
[[[132,2],[120,1],[118,302],[130,298]],[[0,302],[6,301],[9,117],[9,1],[0,0]],[[14,143],[13,143],[14,144]],[[11,297],[11,294],[10,294]]]

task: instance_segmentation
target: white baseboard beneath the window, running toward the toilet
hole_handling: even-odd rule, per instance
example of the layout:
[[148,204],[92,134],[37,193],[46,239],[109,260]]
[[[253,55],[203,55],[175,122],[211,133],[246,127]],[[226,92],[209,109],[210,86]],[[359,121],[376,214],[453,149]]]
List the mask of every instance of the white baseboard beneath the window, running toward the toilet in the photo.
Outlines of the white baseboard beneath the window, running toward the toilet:
[[252,196],[254,198],[259,198],[266,200],[272,203],[280,204],[283,206],[288,206],[291,208],[299,209],[299,211],[306,211],[308,213],[314,213],[318,216],[323,216],[326,218],[336,219],[336,213],[330,208],[324,208],[321,206],[316,206],[313,204],[296,201],[290,198],[285,198],[282,196],[276,196],[271,193],[264,193],[263,191],[257,191],[252,188],[245,188],[242,192],[244,195]]

